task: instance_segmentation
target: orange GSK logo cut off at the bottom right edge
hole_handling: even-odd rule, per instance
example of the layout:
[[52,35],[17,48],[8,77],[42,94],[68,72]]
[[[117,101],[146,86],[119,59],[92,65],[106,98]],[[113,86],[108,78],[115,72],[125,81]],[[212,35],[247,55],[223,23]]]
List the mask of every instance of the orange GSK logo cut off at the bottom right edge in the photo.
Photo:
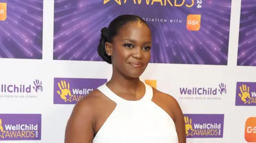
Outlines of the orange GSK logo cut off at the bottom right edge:
[[244,138],[247,142],[256,142],[256,117],[246,120]]

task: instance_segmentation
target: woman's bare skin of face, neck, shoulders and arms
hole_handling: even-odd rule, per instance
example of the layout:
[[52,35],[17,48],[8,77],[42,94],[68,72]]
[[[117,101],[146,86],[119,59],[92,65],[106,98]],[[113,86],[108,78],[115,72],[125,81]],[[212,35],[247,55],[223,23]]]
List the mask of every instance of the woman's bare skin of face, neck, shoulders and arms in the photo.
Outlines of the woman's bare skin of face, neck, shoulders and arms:
[[[150,47],[151,32],[143,22],[125,24],[113,41],[106,43],[106,51],[113,63],[113,75],[107,86],[116,95],[125,100],[139,100],[145,94],[145,86],[139,77],[149,63]],[[152,102],[170,115],[179,143],[186,143],[184,117],[177,100],[153,88]],[[116,103],[99,90],[93,90],[79,100],[67,123],[65,143],[92,143],[115,107]]]

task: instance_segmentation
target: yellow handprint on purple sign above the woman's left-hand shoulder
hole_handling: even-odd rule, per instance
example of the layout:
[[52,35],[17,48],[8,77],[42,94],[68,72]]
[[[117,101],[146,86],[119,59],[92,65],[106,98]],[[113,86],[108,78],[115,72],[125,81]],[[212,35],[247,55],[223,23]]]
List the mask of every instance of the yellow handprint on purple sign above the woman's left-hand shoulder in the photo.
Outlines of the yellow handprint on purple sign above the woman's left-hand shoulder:
[[60,91],[58,90],[57,93],[60,95],[60,98],[65,100],[65,102],[67,100],[69,100],[71,102],[71,97],[73,95],[71,95],[71,92],[69,90],[69,83],[68,83],[68,86],[66,84],[66,81],[60,81],[58,82],[58,86],[60,88]]

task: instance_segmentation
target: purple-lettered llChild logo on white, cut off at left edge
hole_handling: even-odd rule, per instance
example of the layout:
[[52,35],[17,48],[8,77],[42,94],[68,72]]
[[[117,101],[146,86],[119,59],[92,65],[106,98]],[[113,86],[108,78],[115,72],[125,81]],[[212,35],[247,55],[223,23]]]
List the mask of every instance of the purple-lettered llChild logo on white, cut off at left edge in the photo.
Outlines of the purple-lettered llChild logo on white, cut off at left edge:
[[42,81],[38,79],[31,84],[0,83],[0,98],[36,98],[37,95],[34,94],[39,92],[43,92],[43,85]]

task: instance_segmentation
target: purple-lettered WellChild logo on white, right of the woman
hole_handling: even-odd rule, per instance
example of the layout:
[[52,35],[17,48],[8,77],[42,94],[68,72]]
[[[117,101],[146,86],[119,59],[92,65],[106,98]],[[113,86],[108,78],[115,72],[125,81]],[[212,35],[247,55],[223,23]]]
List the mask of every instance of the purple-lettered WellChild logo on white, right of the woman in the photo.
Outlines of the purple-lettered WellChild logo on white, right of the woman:
[[[193,87],[193,88],[182,87],[180,88],[180,94],[183,95],[182,97],[180,97],[180,99],[210,99],[210,100],[221,99],[220,97],[215,97],[215,96],[226,95],[227,87],[225,83],[220,83],[218,87]],[[210,97],[210,96],[214,96],[214,97]]]

